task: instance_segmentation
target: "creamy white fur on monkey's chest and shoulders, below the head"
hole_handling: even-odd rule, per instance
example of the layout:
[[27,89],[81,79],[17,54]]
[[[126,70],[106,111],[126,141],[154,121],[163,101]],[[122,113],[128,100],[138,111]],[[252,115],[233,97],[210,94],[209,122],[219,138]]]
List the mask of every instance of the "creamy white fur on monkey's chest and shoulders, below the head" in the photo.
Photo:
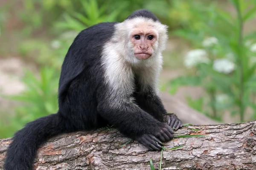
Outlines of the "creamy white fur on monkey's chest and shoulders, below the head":
[[119,96],[131,95],[135,88],[135,74],[142,91],[146,91],[150,87],[157,93],[158,77],[163,62],[162,55],[158,54],[147,60],[130,63],[113,46],[115,46],[113,42],[107,43],[102,56],[104,78],[112,91],[111,93],[118,92]]

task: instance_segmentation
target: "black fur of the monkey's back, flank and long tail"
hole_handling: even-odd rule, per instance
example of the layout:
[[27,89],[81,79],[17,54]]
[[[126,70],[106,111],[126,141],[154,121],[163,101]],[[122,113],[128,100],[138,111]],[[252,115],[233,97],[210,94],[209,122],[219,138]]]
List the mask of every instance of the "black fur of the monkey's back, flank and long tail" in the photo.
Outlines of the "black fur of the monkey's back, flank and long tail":
[[103,45],[111,39],[115,23],[99,23],[81,31],[61,67],[58,113],[29,122],[15,133],[4,170],[32,170],[38,147],[52,136],[106,126],[97,113],[95,94],[105,91],[100,64]]

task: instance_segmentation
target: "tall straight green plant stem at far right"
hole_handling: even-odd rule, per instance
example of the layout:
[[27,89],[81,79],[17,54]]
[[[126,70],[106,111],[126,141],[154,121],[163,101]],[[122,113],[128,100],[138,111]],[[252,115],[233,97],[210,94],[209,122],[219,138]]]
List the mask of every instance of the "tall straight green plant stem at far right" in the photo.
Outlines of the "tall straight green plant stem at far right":
[[239,68],[240,68],[240,93],[239,93],[239,113],[240,113],[240,121],[244,122],[244,102],[243,102],[243,96],[244,96],[244,67],[243,67],[243,61],[241,55],[241,49],[243,50],[243,18],[240,11],[240,5],[238,1],[238,6],[236,6],[236,12],[238,17],[238,24],[239,24],[239,37],[238,37],[238,45],[239,47],[239,55],[240,55],[240,62],[239,62]]

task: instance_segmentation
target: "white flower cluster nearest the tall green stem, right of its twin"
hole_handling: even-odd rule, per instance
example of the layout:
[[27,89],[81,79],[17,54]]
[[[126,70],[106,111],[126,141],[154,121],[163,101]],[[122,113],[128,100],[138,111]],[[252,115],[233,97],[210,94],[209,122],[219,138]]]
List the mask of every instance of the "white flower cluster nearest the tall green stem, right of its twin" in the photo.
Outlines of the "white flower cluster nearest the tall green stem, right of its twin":
[[231,62],[229,59],[215,59],[213,61],[213,70],[218,71],[220,73],[229,74],[235,69],[235,64]]

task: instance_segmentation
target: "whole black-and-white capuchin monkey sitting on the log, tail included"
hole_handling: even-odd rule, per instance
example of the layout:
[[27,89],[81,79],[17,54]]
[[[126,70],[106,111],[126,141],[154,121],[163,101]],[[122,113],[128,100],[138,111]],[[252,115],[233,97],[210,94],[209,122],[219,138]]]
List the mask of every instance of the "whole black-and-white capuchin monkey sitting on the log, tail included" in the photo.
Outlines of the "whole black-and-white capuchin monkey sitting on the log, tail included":
[[29,122],[9,145],[5,170],[32,170],[38,147],[52,136],[113,125],[150,150],[161,150],[182,127],[159,98],[167,26],[150,11],[122,23],[81,31],[67,51],[58,112]]

